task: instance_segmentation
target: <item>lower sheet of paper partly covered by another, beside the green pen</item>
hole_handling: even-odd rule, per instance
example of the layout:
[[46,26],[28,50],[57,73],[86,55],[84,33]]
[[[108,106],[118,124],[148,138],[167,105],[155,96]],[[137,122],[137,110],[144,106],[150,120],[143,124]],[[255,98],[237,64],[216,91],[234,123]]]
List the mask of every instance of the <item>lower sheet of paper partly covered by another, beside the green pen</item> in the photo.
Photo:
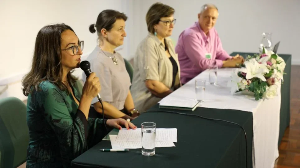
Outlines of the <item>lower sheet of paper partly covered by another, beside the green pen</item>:
[[[117,135],[109,135],[112,149],[139,149],[142,148],[142,142],[138,141],[116,141]],[[156,142],[155,147],[173,147],[173,142]]]

